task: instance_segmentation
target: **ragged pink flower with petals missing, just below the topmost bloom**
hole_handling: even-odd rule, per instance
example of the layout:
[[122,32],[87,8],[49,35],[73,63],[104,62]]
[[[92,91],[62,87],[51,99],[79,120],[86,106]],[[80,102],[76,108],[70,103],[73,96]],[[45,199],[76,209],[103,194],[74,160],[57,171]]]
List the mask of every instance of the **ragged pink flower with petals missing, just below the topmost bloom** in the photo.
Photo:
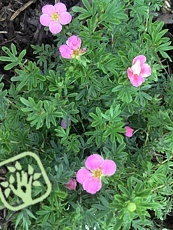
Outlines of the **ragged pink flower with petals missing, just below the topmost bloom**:
[[66,41],[66,45],[61,45],[59,47],[59,51],[63,58],[79,58],[79,56],[86,51],[85,48],[80,49],[80,47],[81,39],[78,36],[72,35]]

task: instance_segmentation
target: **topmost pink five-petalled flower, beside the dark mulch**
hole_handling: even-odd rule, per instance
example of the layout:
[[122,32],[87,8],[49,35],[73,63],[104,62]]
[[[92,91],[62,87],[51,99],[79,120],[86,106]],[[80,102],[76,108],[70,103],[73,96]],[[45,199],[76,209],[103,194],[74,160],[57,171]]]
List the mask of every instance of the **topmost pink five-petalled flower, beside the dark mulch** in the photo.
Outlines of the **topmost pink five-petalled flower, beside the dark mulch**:
[[71,22],[72,16],[66,12],[67,8],[63,3],[56,3],[53,5],[45,5],[42,8],[42,15],[40,16],[40,23],[43,26],[48,26],[53,34],[58,34],[62,30],[62,25]]

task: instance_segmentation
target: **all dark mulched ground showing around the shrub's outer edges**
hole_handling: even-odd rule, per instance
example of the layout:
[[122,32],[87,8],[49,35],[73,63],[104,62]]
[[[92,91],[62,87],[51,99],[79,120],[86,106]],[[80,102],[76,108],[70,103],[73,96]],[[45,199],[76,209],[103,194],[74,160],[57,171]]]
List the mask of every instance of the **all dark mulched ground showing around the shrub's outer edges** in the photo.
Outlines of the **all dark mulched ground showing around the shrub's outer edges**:
[[[57,1],[58,2],[58,1]],[[79,3],[80,0],[61,0],[67,8]],[[2,55],[2,46],[9,47],[14,43],[18,51],[27,50],[27,58],[34,60],[31,44],[40,45],[42,43],[51,44],[53,38],[50,32],[44,31],[43,26],[39,23],[42,6],[46,4],[55,4],[55,0],[0,0],[0,55]],[[165,1],[165,6],[155,20],[163,20],[165,27],[169,29],[167,36],[173,42],[173,4],[171,0]],[[173,52],[170,53],[173,58]],[[3,76],[5,88],[10,85],[10,78],[13,73],[4,71],[4,63],[0,62],[0,77]],[[173,66],[169,63],[170,73],[173,72]],[[3,176],[0,172],[0,177]],[[0,210],[0,229],[14,230],[11,225],[11,218],[7,220],[8,211]],[[153,216],[155,219],[155,217]],[[159,224],[159,222],[156,221]],[[173,212],[171,212],[164,223],[160,223],[169,230],[173,229]],[[163,227],[159,228],[162,229]]]

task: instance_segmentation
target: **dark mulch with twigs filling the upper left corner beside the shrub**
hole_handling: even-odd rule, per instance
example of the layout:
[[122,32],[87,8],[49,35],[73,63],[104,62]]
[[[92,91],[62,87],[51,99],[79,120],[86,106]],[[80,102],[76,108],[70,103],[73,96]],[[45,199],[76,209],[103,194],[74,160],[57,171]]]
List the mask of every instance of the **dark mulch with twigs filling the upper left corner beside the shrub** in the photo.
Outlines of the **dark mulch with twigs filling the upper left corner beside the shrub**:
[[[79,1],[61,0],[68,10]],[[0,55],[2,46],[10,47],[14,43],[19,52],[26,49],[26,57],[33,60],[31,44],[53,43],[52,34],[46,32],[39,22],[41,9],[46,4],[54,5],[55,0],[0,0]],[[4,71],[4,65],[4,62],[0,62],[0,76],[3,75],[5,88],[8,88],[13,72]]]

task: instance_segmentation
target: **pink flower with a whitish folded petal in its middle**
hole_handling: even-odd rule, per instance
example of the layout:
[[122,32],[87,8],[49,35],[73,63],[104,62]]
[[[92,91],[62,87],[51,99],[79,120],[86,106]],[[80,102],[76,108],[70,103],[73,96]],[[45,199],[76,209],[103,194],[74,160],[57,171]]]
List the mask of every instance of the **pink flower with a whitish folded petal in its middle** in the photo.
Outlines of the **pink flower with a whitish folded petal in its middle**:
[[135,87],[140,86],[145,81],[145,78],[151,75],[151,67],[145,62],[146,57],[138,55],[133,59],[132,67],[127,69],[128,78]]

